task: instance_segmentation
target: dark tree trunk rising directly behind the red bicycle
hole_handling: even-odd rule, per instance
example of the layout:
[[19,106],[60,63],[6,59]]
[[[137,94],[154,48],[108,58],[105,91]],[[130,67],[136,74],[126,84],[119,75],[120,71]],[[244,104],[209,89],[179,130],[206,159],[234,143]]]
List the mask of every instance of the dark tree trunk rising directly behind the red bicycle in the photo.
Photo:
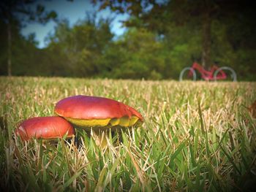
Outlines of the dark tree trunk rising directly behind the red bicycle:
[[209,12],[203,15],[202,65],[206,69],[211,66],[211,18]]

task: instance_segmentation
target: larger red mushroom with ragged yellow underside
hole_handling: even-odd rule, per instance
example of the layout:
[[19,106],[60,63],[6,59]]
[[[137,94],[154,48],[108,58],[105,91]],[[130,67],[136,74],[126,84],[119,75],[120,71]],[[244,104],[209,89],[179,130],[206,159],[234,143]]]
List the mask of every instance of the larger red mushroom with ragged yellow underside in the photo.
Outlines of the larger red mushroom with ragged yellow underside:
[[55,113],[86,131],[115,131],[137,126],[142,115],[126,104],[97,96],[70,96],[56,104]]

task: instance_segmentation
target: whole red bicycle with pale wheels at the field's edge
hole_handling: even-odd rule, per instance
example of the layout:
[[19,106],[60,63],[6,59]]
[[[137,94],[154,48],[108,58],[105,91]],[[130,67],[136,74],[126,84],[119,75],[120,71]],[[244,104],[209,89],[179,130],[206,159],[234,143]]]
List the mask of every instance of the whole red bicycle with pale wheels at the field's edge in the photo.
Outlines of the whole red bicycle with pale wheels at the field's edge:
[[216,65],[211,66],[211,69],[207,71],[197,62],[194,62],[191,67],[185,67],[182,69],[179,80],[196,80],[197,74],[195,72],[200,73],[200,76],[203,80],[228,80],[228,81],[236,81],[236,72],[230,68],[229,66],[218,67]]

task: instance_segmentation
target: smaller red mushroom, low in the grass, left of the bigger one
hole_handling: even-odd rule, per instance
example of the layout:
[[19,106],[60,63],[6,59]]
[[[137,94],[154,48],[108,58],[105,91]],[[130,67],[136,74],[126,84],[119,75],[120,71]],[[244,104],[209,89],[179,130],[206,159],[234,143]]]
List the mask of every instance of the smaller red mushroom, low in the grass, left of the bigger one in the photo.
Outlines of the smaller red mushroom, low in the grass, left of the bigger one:
[[18,126],[16,133],[22,140],[31,138],[57,139],[67,135],[67,138],[75,134],[72,125],[61,117],[40,117],[24,120]]

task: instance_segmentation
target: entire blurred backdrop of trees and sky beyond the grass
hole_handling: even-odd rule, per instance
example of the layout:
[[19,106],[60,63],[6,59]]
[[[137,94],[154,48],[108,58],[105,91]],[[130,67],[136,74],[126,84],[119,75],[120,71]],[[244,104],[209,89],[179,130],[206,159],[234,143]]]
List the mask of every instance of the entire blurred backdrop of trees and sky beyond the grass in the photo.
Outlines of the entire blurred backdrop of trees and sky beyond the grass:
[[0,75],[178,80],[199,62],[256,80],[244,0],[0,1]]

